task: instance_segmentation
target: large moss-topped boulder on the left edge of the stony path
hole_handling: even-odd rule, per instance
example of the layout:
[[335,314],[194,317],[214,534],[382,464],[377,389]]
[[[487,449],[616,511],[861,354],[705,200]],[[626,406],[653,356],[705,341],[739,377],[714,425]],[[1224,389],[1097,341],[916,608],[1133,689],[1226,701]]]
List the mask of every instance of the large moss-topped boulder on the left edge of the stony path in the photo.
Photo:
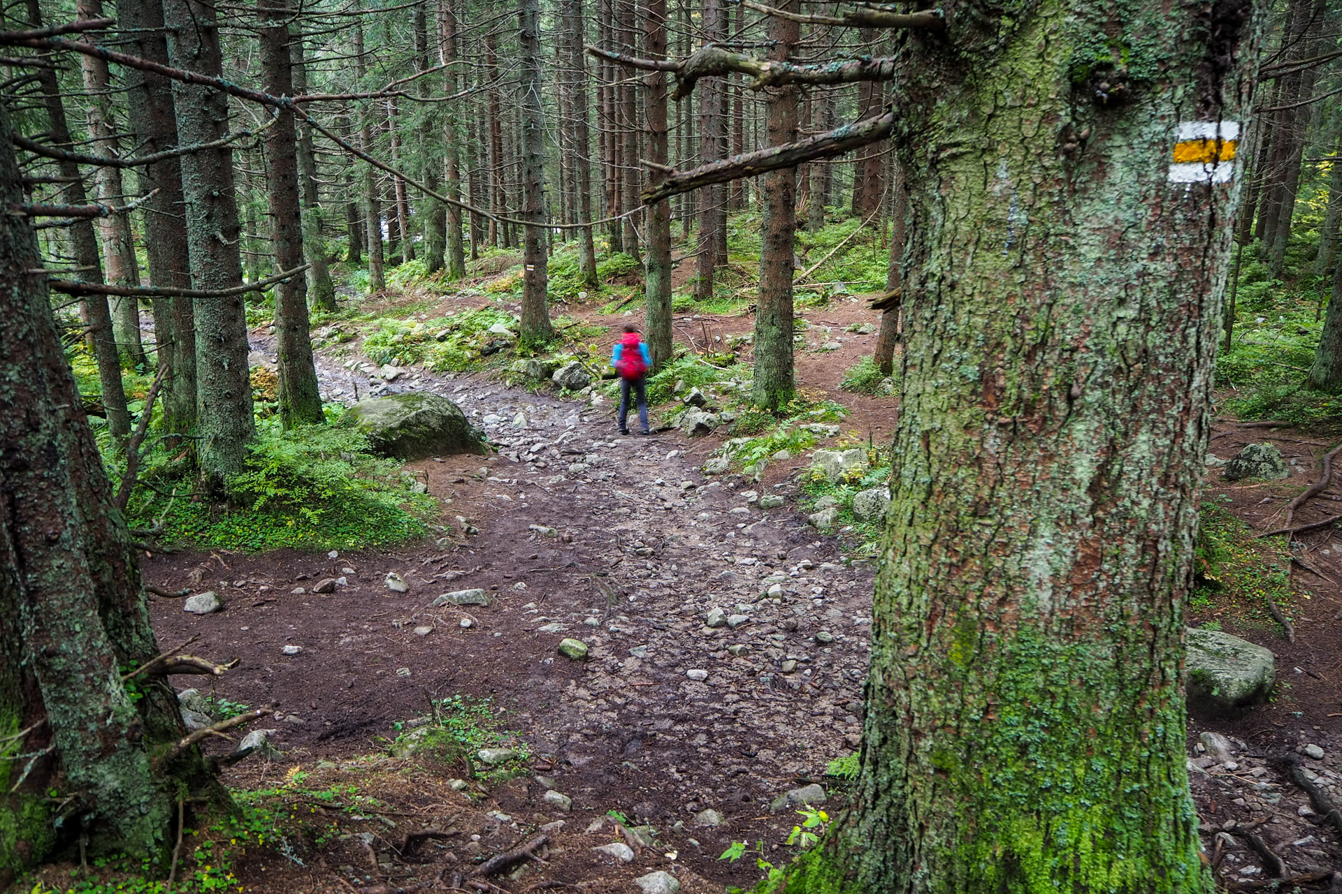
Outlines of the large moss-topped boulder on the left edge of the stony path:
[[488,453],[484,436],[446,397],[427,391],[388,394],[345,410],[338,426],[368,436],[373,449],[399,460],[451,453]]

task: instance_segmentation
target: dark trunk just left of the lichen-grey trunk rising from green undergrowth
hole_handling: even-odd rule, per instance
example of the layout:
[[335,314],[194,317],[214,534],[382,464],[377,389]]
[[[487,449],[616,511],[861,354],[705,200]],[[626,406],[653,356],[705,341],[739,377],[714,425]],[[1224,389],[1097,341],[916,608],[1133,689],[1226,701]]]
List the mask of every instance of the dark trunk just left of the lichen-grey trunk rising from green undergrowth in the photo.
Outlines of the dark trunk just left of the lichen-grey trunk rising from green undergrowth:
[[[161,0],[122,0],[117,13],[125,29],[126,51],[168,64]],[[177,119],[173,92],[166,78],[136,72],[127,92],[130,125],[136,143],[145,154],[177,146]],[[149,194],[141,209],[145,221],[145,256],[149,283],[164,288],[191,285],[187,228],[183,227],[185,200],[181,189],[181,159],[168,158],[138,169],[141,194]],[[185,433],[196,425],[196,323],[191,299],[160,298],[153,302],[154,351],[168,365],[162,385],[164,428]]]

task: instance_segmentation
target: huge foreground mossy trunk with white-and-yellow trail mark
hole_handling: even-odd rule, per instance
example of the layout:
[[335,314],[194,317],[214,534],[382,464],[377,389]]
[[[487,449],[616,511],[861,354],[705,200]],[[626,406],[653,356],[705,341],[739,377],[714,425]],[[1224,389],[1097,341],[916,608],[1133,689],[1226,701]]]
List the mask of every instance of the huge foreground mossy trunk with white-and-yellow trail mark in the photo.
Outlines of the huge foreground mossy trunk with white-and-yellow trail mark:
[[852,808],[789,893],[1209,893],[1184,603],[1251,114],[1248,0],[947,3],[913,188]]

